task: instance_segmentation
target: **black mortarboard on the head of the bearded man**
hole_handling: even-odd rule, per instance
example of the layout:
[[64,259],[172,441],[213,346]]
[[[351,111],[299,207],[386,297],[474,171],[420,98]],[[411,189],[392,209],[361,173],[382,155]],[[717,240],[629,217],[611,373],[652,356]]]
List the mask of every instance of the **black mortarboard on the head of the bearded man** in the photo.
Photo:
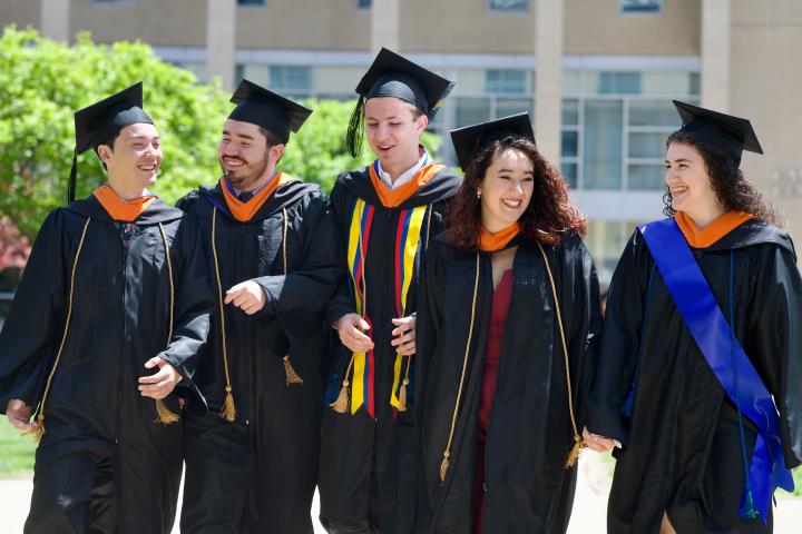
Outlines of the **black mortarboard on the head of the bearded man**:
[[231,99],[237,107],[228,116],[232,120],[261,126],[281,142],[290,140],[290,130],[297,131],[312,110],[243,79]]

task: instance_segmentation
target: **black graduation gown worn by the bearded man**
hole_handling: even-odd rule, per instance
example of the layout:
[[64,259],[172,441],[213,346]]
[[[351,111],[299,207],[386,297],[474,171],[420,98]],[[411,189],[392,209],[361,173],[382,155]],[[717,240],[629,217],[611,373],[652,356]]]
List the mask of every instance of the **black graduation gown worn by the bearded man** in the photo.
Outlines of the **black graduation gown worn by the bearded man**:
[[[197,220],[206,270],[215,286],[212,215],[217,207],[215,245],[223,297],[250,279],[270,295],[252,316],[225,305],[234,423],[219,415],[226,379],[219,308],[213,314],[196,377],[208,414],[193,407],[194,416],[185,425],[182,532],[312,533],[327,354],[323,314],[342,273],[327,200],[316,185],[293,180],[280,185],[247,222],[228,215],[219,184],[190,192],[178,206]],[[303,384],[287,385],[285,355]]]

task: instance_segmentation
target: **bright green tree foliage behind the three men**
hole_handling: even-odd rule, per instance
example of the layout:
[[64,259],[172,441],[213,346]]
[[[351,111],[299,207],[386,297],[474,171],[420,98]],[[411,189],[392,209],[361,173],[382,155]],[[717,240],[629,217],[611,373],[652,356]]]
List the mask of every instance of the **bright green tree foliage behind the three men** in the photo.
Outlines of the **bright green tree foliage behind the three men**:
[[[35,30],[8,27],[0,38],[0,215],[30,238],[48,211],[66,201],[75,149],[74,113],[136,81],[164,150],[155,192],[174,202],[219,177],[216,148],[233,105],[218,83],[162,61],[143,42],[98,44],[86,33],[67,46]],[[343,170],[370,161],[346,154],[344,132],[353,102],[309,100],[314,112],[291,136],[281,170],[329,190]],[[439,139],[426,134],[436,150]],[[77,198],[105,181],[94,154],[78,156]]]

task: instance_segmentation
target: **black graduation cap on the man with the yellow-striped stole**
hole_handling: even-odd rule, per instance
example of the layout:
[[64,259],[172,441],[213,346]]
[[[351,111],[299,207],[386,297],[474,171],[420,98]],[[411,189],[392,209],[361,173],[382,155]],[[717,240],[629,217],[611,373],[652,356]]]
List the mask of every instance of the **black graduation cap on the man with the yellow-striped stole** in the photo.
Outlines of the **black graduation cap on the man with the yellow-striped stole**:
[[362,151],[365,101],[376,97],[400,98],[412,103],[431,120],[453,86],[453,81],[382,48],[356,86],[360,98],[351,115],[346,137],[351,155],[356,157]]

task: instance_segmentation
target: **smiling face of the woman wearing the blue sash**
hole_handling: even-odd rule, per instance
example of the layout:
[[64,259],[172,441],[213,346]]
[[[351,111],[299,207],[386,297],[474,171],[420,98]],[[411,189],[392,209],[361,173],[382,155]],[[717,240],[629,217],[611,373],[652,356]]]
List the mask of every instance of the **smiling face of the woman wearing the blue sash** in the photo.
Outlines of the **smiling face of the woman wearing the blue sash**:
[[694,147],[676,141],[668,146],[665,181],[675,211],[684,211],[696,221],[710,220],[723,212],[704,158]]

